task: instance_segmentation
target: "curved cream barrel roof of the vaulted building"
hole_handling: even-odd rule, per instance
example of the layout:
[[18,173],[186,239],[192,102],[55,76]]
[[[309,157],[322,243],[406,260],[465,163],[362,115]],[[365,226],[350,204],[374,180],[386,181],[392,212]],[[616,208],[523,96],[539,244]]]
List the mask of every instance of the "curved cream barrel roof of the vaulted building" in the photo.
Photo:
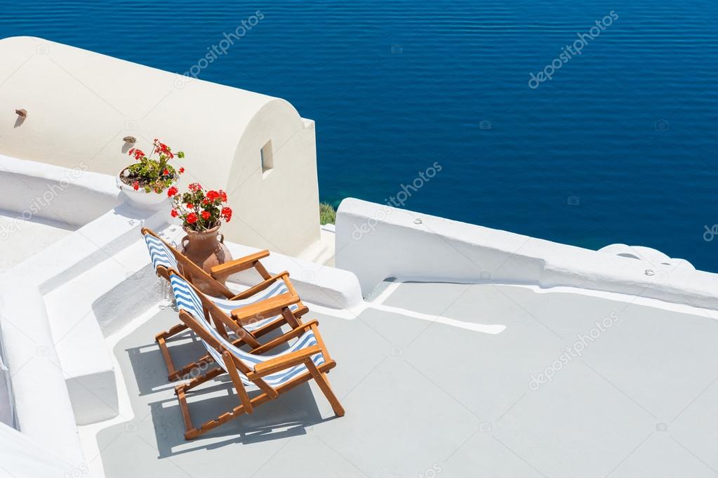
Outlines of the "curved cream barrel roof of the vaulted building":
[[159,137],[184,150],[188,164],[202,159],[202,169],[227,174],[243,131],[269,103],[281,103],[284,118],[273,108],[274,121],[301,125],[284,100],[45,39],[1,39],[0,57],[0,111],[28,112],[22,128],[2,122],[2,152],[22,159],[84,160],[90,170],[116,174],[131,162],[122,156],[124,136],[142,149]]

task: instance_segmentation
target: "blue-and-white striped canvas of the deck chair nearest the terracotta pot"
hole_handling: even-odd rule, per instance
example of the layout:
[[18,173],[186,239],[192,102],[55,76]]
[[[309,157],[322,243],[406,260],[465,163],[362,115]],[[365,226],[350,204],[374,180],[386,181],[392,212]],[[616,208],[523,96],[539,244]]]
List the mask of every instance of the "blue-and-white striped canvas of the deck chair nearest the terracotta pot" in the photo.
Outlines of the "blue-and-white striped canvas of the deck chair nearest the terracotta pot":
[[[164,266],[168,269],[174,269],[175,271],[179,271],[179,268],[177,266],[177,258],[174,257],[174,253],[172,253],[172,250],[169,250],[167,245],[165,245],[162,240],[159,240],[158,238],[154,237],[154,235],[145,234],[144,241],[147,245],[147,250],[149,250],[149,258],[151,259],[152,266],[154,266],[155,270],[157,270],[157,266]],[[208,298],[215,304],[217,304],[217,306],[222,309],[225,314],[230,315],[234,309],[239,309],[242,306],[254,304],[255,302],[263,301],[264,299],[269,299],[270,297],[279,296],[280,294],[285,294],[286,292],[289,292],[289,289],[287,289],[284,281],[276,281],[274,284],[264,289],[264,291],[259,291],[258,293],[254,294],[251,297],[248,297],[247,299],[230,300],[220,299],[213,296],[208,296]],[[297,311],[298,309],[299,306],[297,304],[292,304],[292,306],[289,306],[289,310],[293,312]],[[244,328],[247,329],[249,332],[253,332],[257,329],[261,329],[267,324],[271,324],[271,322],[274,322],[275,320],[279,319],[279,317],[280,316],[277,315],[274,317],[261,319],[252,322],[251,324],[246,324]]]

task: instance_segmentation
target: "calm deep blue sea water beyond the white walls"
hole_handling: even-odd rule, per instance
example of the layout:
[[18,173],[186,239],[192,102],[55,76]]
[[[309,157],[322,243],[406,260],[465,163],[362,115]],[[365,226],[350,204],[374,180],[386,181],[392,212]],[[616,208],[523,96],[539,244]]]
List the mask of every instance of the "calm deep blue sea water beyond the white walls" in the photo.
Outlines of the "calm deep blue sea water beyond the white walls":
[[5,2],[0,34],[181,73],[260,10],[200,78],[317,121],[322,200],[383,202],[438,161],[406,208],[718,271],[718,237],[703,238],[718,223],[715,0],[149,3]]

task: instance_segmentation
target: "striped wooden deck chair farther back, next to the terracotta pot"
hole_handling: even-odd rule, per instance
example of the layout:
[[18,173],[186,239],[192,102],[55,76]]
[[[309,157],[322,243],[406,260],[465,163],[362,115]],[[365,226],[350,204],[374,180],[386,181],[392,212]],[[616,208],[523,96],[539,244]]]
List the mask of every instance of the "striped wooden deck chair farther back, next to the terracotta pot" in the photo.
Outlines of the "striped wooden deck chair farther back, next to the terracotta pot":
[[[195,277],[202,277],[205,283],[215,281],[213,276],[203,271],[202,268],[190,261],[180,253],[179,250],[173,248],[172,245],[169,245],[151,230],[143,228],[141,232],[147,245],[147,250],[149,250],[152,265],[158,276],[164,277],[169,281],[167,271],[169,271],[169,269],[177,271],[180,265],[184,265],[185,271],[192,272]],[[246,342],[250,347],[258,347],[258,337],[274,329],[278,329],[283,324],[289,324],[293,329],[298,327],[302,324],[301,317],[309,310],[307,306],[302,304],[301,300],[294,300],[298,296],[292,282],[289,281],[288,272],[285,271],[271,276],[267,273],[264,266],[261,266],[259,258],[266,256],[269,256],[269,251],[264,250],[260,253],[239,258],[236,261],[231,261],[230,263],[219,266],[220,271],[223,271],[222,273],[225,273],[225,271],[234,273],[253,267],[261,274],[264,281],[240,294],[234,294],[230,289],[227,289],[224,284],[217,282],[217,289],[213,290],[218,290],[222,297],[208,296],[213,304],[217,306],[216,308],[222,311],[225,316],[233,317],[231,312],[235,309],[249,311],[249,314],[246,316],[247,318],[244,319],[245,322],[238,324],[241,326],[242,333],[241,337],[237,339],[237,342]],[[268,299],[274,300],[269,304],[265,304],[273,306],[271,310],[276,311],[274,314],[270,314],[270,311],[263,308],[246,309],[252,304]],[[166,332],[160,332],[155,336],[155,342],[157,342],[159,350],[162,352],[164,362],[167,365],[167,378],[169,380],[182,378],[182,376],[187,375],[193,368],[202,365],[207,359],[207,356],[201,357],[199,360],[190,362],[182,367],[176,367],[174,365],[172,355],[170,355],[167,347],[167,339],[186,329],[187,326],[185,324],[177,324]],[[221,330],[225,333],[224,329]]]

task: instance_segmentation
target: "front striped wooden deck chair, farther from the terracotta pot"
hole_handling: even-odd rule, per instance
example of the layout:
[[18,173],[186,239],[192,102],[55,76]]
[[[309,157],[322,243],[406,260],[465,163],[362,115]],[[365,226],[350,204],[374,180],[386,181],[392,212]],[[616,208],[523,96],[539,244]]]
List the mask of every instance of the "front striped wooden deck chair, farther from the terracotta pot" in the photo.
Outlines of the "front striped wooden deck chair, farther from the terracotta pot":
[[[339,403],[327,379],[327,372],[335,367],[336,362],[332,360],[322,341],[317,321],[313,320],[302,324],[292,332],[267,342],[253,352],[246,352],[236,347],[215,327],[212,327],[209,316],[205,312],[205,309],[211,307],[212,304],[204,294],[175,271],[169,271],[169,278],[174,297],[177,299],[177,306],[180,309],[180,319],[202,339],[209,355],[220,366],[174,388],[182,410],[182,418],[185,421],[185,439],[194,439],[206,431],[243,415],[243,413],[253,413],[254,407],[277,398],[282,393],[312,379],[325,394],[334,413],[337,416],[344,416],[344,408]],[[276,355],[263,355],[278,345],[287,344],[291,339],[297,339],[297,341],[284,352]],[[225,373],[229,375],[237,392],[239,405],[222,413],[217,418],[195,427],[192,425],[190,408],[187,405],[187,392],[197,385]],[[261,393],[250,398],[248,391],[251,390],[260,390]]]

